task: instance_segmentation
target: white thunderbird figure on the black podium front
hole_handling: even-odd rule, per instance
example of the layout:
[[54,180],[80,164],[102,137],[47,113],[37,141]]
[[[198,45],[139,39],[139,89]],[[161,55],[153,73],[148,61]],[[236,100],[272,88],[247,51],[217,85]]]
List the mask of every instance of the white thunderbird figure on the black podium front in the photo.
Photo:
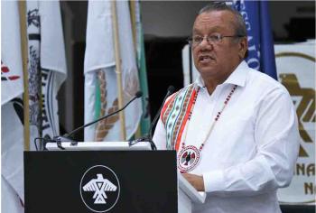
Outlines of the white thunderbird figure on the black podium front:
[[97,179],[92,179],[83,187],[84,191],[95,191],[93,199],[95,199],[95,204],[106,204],[107,195],[106,191],[115,191],[117,189],[116,185],[107,179],[103,178],[102,174],[97,174]]

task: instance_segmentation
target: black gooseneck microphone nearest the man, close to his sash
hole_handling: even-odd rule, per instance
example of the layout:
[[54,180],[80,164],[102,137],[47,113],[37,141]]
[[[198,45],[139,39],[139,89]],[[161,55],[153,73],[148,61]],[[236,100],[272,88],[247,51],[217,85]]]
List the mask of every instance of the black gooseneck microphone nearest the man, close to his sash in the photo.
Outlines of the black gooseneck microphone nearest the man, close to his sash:
[[157,122],[157,120],[158,120],[158,118],[160,116],[160,113],[161,113],[161,111],[163,109],[164,102],[166,101],[167,97],[172,95],[173,91],[174,91],[174,87],[173,86],[169,86],[169,88],[167,89],[167,94],[163,98],[163,104],[162,104],[162,106],[160,106],[156,116],[154,116],[153,122],[150,125],[148,133],[144,137],[138,138],[138,139],[136,139],[134,141],[130,141],[129,145],[134,145],[134,144],[137,144],[138,142],[149,142],[151,144],[151,146],[152,146],[152,150],[157,150],[156,145],[153,143],[153,134],[152,134],[152,132],[153,132],[153,125]]

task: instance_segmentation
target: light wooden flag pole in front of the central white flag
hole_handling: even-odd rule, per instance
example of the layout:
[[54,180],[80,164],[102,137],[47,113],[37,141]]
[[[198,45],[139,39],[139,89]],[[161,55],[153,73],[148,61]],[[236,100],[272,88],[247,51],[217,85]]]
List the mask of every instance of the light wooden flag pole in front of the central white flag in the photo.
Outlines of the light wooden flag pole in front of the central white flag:
[[[116,1],[111,1],[111,10],[112,10],[112,23],[114,29],[114,48],[116,52],[116,82],[118,90],[118,108],[123,107],[123,89],[122,89],[122,69],[121,69],[121,55],[119,51],[119,37],[118,37],[118,25],[117,25],[117,15],[116,15]],[[125,131],[125,115],[124,111],[119,113],[119,120],[121,124],[121,140],[126,140],[126,131]]]

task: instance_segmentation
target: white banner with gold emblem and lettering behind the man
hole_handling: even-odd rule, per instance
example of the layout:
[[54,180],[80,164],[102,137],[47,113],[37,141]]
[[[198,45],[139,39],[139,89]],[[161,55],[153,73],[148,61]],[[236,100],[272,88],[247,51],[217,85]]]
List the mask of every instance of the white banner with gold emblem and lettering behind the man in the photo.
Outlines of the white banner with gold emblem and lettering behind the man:
[[301,146],[293,181],[278,190],[281,202],[315,204],[315,42],[275,45],[279,81],[289,91],[299,121]]

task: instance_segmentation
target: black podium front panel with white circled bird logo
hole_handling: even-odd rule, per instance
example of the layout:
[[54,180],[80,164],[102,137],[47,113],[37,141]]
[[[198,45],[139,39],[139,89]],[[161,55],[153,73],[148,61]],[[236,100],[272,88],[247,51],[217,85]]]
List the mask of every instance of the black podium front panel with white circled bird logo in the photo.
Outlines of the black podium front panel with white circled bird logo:
[[24,152],[25,213],[177,212],[173,151]]

